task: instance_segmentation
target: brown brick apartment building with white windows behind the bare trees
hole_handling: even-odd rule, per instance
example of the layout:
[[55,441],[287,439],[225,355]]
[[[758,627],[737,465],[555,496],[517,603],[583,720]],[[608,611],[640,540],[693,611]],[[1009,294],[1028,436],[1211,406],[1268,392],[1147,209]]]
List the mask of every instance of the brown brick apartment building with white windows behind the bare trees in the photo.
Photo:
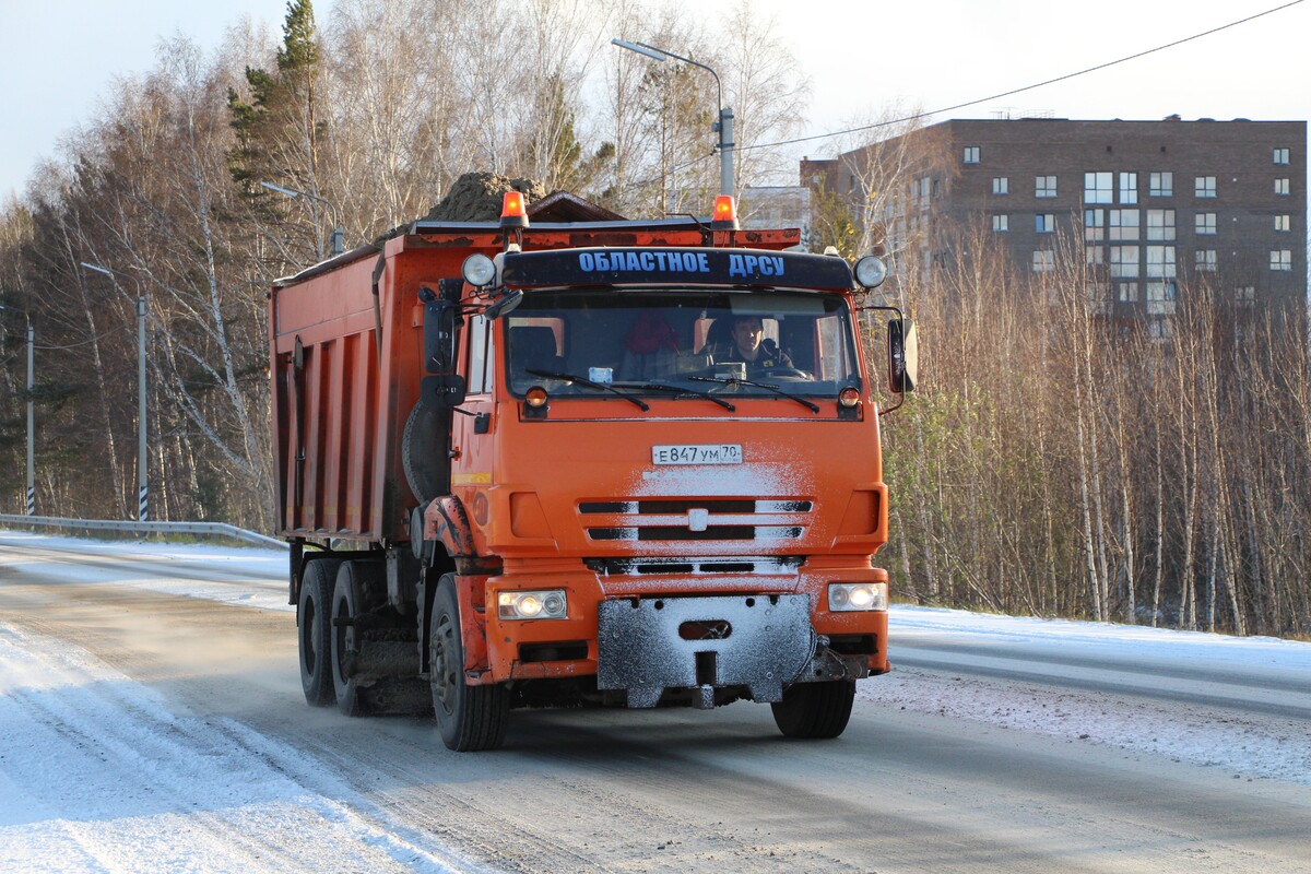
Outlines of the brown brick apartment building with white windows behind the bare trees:
[[[1082,244],[1099,308],[1120,318],[1168,316],[1200,282],[1239,305],[1306,300],[1306,122],[954,119],[907,136],[935,155],[909,165],[881,220],[910,265],[952,258],[945,231],[974,221],[1033,273],[1059,240]],[[871,153],[802,160],[801,182],[868,195]]]

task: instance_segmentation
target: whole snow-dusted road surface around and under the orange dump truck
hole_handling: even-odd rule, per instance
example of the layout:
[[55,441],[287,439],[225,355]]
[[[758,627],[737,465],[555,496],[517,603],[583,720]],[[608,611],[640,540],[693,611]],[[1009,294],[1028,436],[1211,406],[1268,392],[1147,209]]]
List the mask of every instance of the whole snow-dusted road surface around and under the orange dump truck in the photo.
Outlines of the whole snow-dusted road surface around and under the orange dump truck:
[[1308,871],[1311,645],[898,609],[839,740],[768,708],[304,705],[284,558],[0,532],[3,871]]

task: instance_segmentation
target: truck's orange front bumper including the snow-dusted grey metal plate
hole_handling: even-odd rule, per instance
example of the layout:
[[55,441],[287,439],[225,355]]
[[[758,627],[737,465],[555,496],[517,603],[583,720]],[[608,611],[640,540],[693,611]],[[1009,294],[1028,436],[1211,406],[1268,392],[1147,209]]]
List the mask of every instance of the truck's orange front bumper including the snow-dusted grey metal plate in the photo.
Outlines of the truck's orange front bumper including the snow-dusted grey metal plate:
[[[472,684],[595,676],[600,691],[627,691],[629,706],[641,708],[666,689],[692,689],[694,704],[697,692],[704,700],[725,687],[777,701],[793,683],[888,671],[888,613],[831,612],[823,598],[835,579],[886,582],[886,571],[868,565],[699,579],[506,570],[481,578],[473,596],[486,605],[485,629],[475,632],[486,653],[465,666]],[[527,588],[565,590],[569,617],[501,620],[498,594]]]

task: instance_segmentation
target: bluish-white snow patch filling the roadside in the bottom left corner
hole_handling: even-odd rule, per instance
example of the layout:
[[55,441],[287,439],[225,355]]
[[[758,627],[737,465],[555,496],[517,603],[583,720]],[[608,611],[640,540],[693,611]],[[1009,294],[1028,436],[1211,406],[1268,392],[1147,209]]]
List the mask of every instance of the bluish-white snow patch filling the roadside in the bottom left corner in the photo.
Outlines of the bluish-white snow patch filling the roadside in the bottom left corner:
[[0,736],[3,871],[467,870],[304,753],[3,624]]

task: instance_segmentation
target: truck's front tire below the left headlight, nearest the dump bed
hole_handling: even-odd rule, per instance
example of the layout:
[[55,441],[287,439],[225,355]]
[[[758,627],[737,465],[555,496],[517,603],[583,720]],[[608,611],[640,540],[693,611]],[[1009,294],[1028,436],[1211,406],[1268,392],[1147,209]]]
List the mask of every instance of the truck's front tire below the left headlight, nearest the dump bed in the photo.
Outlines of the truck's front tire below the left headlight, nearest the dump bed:
[[442,743],[456,752],[496,750],[505,742],[510,691],[505,685],[464,683],[464,643],[455,578],[442,577],[433,599],[429,638],[433,710]]

